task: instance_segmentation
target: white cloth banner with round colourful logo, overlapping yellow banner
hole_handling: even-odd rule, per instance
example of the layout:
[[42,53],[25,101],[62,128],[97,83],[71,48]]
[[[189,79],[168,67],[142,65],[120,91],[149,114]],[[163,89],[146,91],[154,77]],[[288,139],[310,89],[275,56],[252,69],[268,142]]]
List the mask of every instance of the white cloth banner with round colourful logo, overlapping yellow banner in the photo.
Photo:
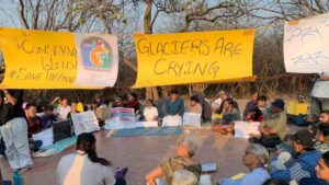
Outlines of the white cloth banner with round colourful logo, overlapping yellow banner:
[[113,86],[118,71],[117,37],[75,34],[78,56],[76,84]]

